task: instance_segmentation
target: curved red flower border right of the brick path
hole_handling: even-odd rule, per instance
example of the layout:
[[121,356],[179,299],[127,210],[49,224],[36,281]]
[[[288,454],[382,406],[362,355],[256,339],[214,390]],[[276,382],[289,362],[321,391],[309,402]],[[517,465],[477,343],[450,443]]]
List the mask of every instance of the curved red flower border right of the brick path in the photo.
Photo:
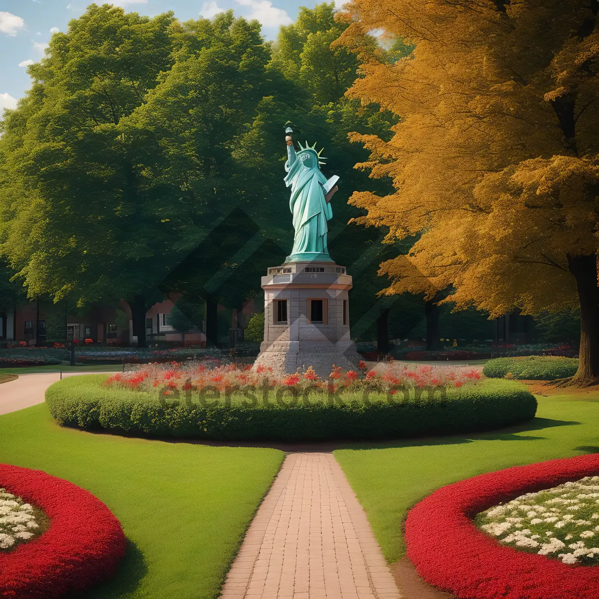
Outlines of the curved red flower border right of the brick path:
[[598,599],[599,566],[500,545],[471,518],[498,503],[599,474],[599,455],[556,459],[462,480],[410,510],[407,555],[420,576],[460,599]]

